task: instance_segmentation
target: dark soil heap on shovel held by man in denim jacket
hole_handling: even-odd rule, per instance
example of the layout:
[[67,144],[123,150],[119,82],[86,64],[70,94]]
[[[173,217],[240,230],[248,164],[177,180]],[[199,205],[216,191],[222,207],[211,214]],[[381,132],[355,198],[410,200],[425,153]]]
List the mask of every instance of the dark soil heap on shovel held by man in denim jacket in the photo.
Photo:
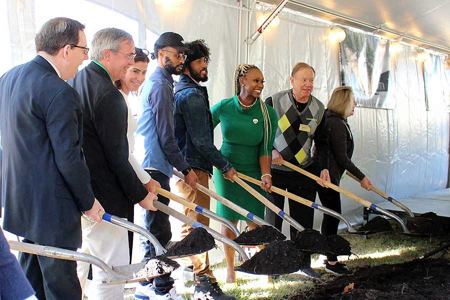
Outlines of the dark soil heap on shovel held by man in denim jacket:
[[333,253],[326,236],[320,234],[319,231],[312,228],[305,228],[304,230],[299,231],[292,240],[294,241],[297,249],[305,253]]

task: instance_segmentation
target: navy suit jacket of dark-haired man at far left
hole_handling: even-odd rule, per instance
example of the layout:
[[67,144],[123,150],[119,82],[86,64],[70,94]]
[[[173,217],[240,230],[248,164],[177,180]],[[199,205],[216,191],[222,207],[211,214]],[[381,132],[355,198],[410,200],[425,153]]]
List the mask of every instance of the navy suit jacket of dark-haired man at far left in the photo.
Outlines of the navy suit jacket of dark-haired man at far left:
[[39,244],[81,245],[92,207],[81,103],[41,56],[0,78],[3,228]]

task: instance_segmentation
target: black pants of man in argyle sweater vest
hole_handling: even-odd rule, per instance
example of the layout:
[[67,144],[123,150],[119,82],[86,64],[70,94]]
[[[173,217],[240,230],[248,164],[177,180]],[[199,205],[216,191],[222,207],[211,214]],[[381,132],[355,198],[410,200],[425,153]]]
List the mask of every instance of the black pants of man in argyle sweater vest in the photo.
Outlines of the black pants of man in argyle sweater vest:
[[[314,162],[311,165],[304,168],[306,171],[320,176],[318,163]],[[277,169],[271,169],[272,184],[279,187],[282,190],[287,190],[293,194],[303,197],[309,201],[315,202],[315,196],[317,187],[320,186],[317,182],[303,174],[296,171],[282,171]],[[284,196],[277,193],[267,193],[267,199],[274,203],[278,208],[284,207]],[[307,207],[304,204],[298,203],[292,199],[289,202],[289,215],[300,225],[305,228],[312,228],[314,221],[314,209]],[[278,230],[281,230],[283,219],[277,216],[273,211],[265,209],[265,220],[273,225]],[[297,234],[297,229],[290,227],[290,238],[293,239]],[[303,267],[309,267],[311,264],[311,255],[305,255],[303,261]]]

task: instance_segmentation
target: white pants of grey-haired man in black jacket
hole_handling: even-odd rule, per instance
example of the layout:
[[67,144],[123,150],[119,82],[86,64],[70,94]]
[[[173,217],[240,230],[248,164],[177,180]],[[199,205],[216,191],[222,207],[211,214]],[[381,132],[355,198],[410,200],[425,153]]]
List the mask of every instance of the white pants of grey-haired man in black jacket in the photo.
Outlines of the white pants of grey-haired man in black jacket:
[[[91,254],[103,260],[107,265],[129,263],[128,232],[126,229],[109,222],[94,223],[81,217],[82,245],[79,252]],[[124,284],[104,284],[105,273],[92,265],[92,282],[85,290],[89,264],[77,261],[76,272],[83,293],[92,300],[123,300]]]

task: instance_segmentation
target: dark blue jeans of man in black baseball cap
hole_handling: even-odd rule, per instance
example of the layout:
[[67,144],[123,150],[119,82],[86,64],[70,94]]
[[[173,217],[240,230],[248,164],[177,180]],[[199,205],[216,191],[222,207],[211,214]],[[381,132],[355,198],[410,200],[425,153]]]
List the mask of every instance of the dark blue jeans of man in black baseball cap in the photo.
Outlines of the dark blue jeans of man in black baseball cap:
[[[145,170],[150,174],[151,178],[158,181],[161,184],[161,188],[170,191],[169,180],[170,178],[157,170]],[[166,198],[162,195],[158,195],[158,201],[168,205],[170,201],[169,198]],[[165,246],[167,242],[169,242],[172,237],[172,232],[170,231],[170,222],[168,214],[165,214],[162,211],[156,210],[145,210],[145,214],[142,217],[142,224],[145,229],[150,231],[151,234],[156,237],[156,239]],[[148,258],[154,257],[156,255],[156,251],[154,246],[149,242],[146,238],[140,237],[140,244],[145,250],[144,257],[142,261],[147,261]],[[150,281],[141,281],[140,284],[145,285],[150,283]],[[173,286],[173,278],[170,277],[170,273],[158,276],[153,279],[154,291],[156,294],[163,295],[167,293],[170,288]]]

